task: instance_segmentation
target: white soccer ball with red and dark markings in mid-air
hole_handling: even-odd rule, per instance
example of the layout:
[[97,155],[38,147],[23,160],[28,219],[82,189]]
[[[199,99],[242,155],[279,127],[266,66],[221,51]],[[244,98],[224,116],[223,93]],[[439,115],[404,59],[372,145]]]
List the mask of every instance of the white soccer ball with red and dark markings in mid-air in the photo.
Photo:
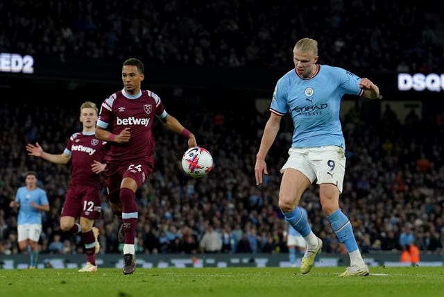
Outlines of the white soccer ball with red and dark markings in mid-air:
[[205,148],[194,146],[183,154],[182,169],[188,176],[201,178],[213,169],[213,157]]

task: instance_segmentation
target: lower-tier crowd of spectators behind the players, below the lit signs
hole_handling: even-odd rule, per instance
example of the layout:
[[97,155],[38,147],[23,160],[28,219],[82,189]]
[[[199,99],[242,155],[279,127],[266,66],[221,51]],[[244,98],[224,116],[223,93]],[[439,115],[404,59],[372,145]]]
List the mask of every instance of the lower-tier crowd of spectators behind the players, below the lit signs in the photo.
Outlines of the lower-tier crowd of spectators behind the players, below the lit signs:
[[[287,252],[283,241],[287,225],[277,202],[278,171],[291,143],[284,131],[290,131],[291,123],[284,121],[268,157],[270,174],[257,187],[255,150],[266,114],[252,112],[245,121],[234,111],[201,108],[191,113],[180,108],[182,122],[193,127],[198,144],[212,153],[214,169],[205,178],[187,178],[180,167],[186,148],[176,135],[155,126],[159,133],[155,171],[137,192],[137,253]],[[341,207],[349,214],[362,253],[402,251],[412,241],[422,253],[442,253],[444,126],[411,116],[404,121],[390,112],[368,123],[362,112],[352,109],[343,119],[348,171],[341,195]],[[39,173],[40,186],[49,196],[41,253],[81,253],[80,237],[61,232],[58,223],[69,167],[32,158],[25,150],[27,143],[39,142],[45,151],[62,151],[67,135],[79,129],[77,108],[8,103],[0,117],[4,119],[0,127],[0,253],[19,253],[17,214],[8,204],[23,185],[22,173],[27,170]],[[323,239],[325,253],[345,253],[330,228],[325,228],[329,225],[316,191],[312,186],[302,199],[311,226]],[[119,226],[105,191],[102,219],[96,224],[101,229],[101,253],[119,253]],[[204,235],[212,238],[211,244],[201,244]]]

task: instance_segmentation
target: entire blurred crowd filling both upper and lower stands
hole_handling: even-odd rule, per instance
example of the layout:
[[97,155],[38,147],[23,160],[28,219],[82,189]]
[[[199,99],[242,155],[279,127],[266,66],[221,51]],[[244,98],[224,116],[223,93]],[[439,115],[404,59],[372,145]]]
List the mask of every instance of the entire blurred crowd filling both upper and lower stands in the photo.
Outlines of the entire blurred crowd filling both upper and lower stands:
[[[294,1],[278,2],[135,0],[127,6],[111,0],[2,1],[0,52],[119,63],[137,56],[146,67],[291,69],[293,44],[310,36],[320,42],[321,64],[357,74],[444,71],[441,1],[408,7],[404,1],[331,0],[296,7]],[[80,237],[58,226],[69,166],[29,157],[25,145],[39,142],[49,153],[62,153],[71,133],[81,129],[80,103],[99,105],[114,90],[100,98],[85,94],[76,101],[66,92],[52,95],[57,104],[33,96],[14,101],[11,96],[1,105],[1,254],[19,253],[17,213],[9,201],[24,185],[28,170],[37,171],[51,208],[44,214],[41,253],[83,253]],[[170,94],[159,95],[167,111],[212,153],[214,169],[205,178],[187,178],[180,169],[186,143],[155,123],[155,171],[137,192],[137,253],[286,253],[287,225],[278,209],[278,189],[279,169],[291,144],[291,122],[281,124],[267,157],[270,174],[257,187],[255,154],[268,111],[247,103],[236,108],[230,97],[223,107],[214,108],[202,94],[186,104],[169,101]],[[353,223],[362,253],[402,251],[412,242],[422,253],[443,253],[443,129],[442,119],[425,121],[414,113],[403,119],[389,109],[368,114],[360,101],[343,117],[347,170],[341,208]],[[324,241],[323,252],[346,253],[321,213],[317,191],[316,185],[308,189],[302,206]],[[102,218],[96,221],[101,253],[121,253],[118,222],[105,190],[102,198]]]

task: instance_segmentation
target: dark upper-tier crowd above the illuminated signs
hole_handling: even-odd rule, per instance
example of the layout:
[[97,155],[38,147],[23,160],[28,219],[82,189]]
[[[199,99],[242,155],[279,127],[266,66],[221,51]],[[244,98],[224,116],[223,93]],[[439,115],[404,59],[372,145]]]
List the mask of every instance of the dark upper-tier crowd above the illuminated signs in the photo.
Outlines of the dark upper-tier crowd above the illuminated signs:
[[287,67],[296,40],[314,37],[322,40],[321,63],[350,71],[443,71],[443,3],[422,4],[4,1],[0,52],[62,61],[135,56],[146,64]]

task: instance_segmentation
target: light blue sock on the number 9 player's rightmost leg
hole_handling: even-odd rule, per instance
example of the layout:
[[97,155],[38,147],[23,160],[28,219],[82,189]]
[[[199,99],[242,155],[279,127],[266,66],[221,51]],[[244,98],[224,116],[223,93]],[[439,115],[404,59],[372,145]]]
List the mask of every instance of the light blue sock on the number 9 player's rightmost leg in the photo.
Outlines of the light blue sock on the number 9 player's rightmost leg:
[[341,209],[330,214],[327,219],[330,221],[330,225],[332,225],[336,237],[345,245],[348,253],[356,251],[358,249],[358,244],[356,243],[355,235],[353,235],[352,224],[348,220],[348,217],[343,214]]

